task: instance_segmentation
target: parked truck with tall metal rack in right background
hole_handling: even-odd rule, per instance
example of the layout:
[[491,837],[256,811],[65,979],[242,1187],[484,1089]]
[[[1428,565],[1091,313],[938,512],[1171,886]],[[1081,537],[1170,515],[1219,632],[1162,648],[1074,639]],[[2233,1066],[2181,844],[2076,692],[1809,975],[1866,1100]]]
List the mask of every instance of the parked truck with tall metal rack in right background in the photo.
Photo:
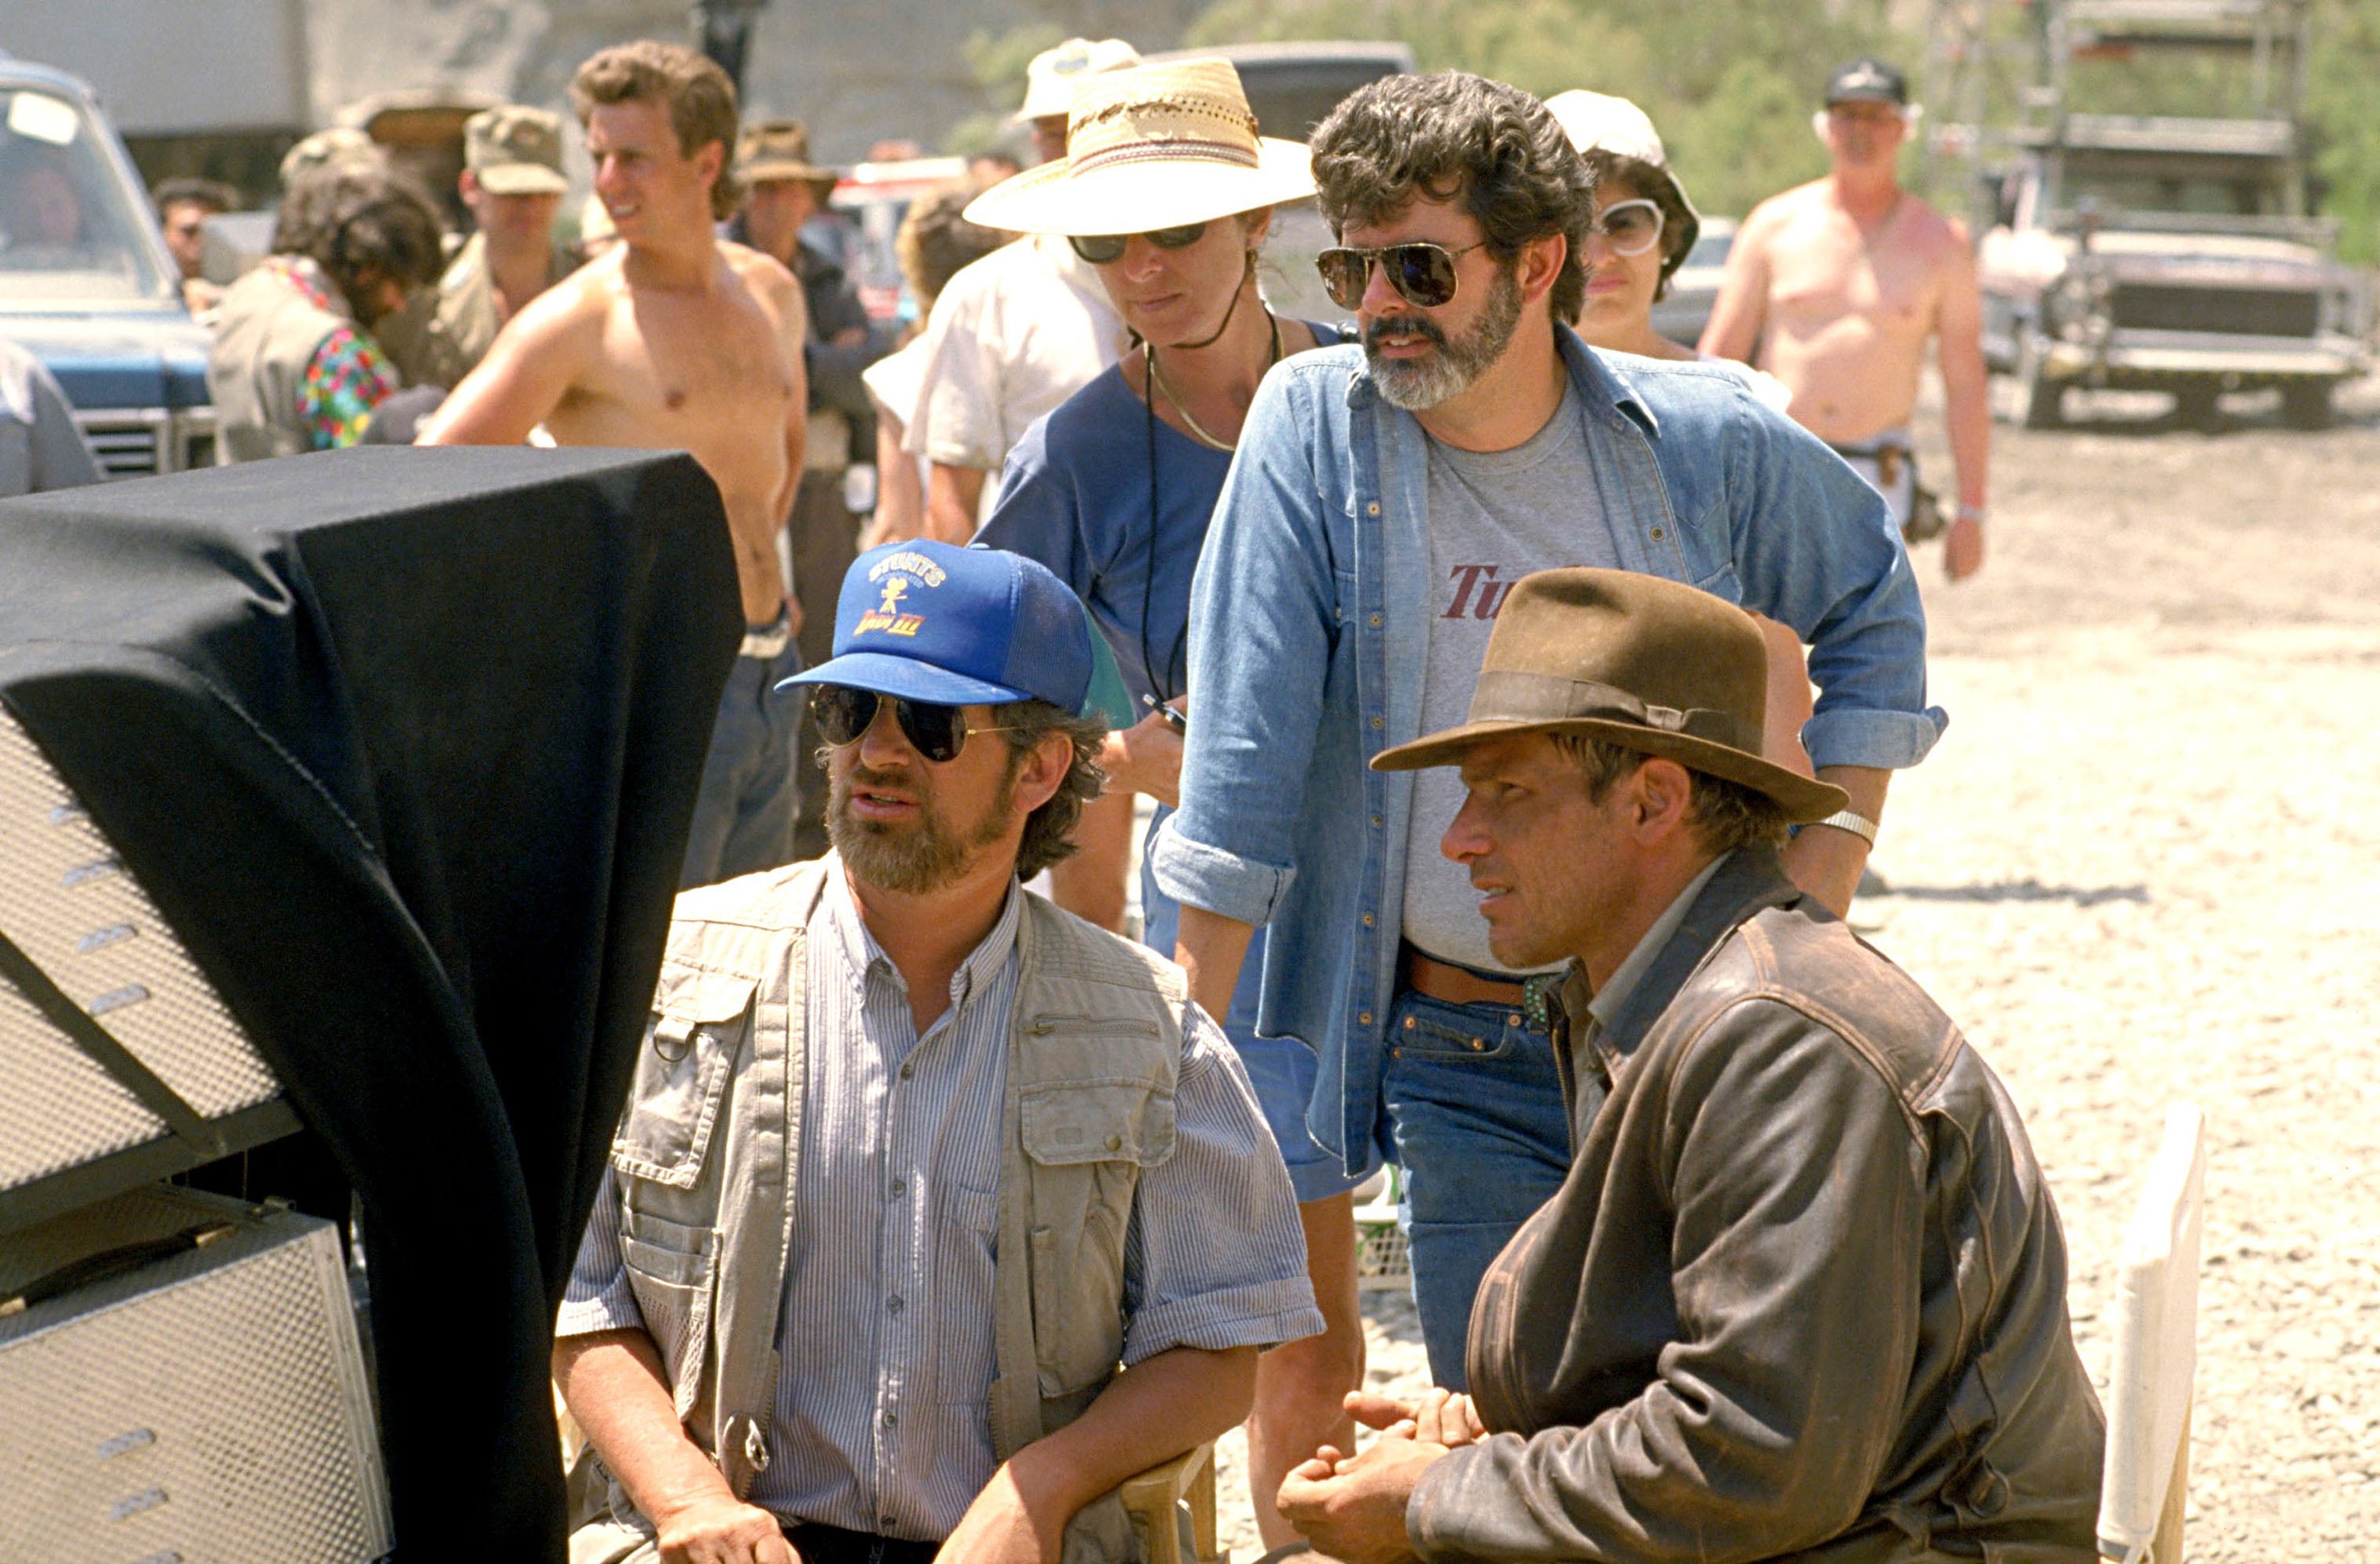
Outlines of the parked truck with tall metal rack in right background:
[[[1978,267],[1985,359],[2016,379],[2028,426],[2073,386],[2168,390],[2211,419],[2225,390],[2280,388],[2282,417],[2330,421],[2370,367],[2370,290],[2337,224],[2306,217],[2297,0],[2063,0],[2052,14],[2054,114],[1999,179]],[[2206,55],[2268,83],[2254,117],[2078,114],[2063,62]]]

